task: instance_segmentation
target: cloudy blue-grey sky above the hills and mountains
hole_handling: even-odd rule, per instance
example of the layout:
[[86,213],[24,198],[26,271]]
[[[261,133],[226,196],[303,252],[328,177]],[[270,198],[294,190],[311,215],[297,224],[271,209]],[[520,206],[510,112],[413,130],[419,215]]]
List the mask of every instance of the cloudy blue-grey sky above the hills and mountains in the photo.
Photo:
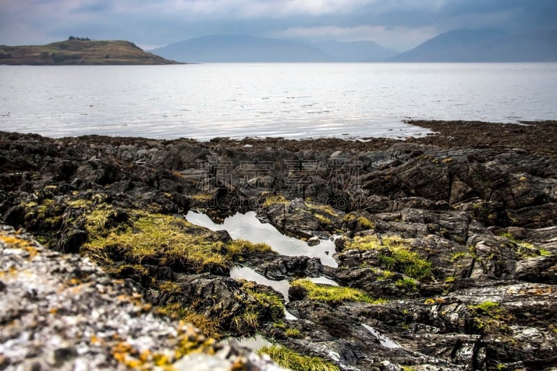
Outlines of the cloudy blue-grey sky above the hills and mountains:
[[144,49],[212,34],[373,40],[404,51],[444,31],[557,29],[557,0],[0,0],[0,44],[69,35]]

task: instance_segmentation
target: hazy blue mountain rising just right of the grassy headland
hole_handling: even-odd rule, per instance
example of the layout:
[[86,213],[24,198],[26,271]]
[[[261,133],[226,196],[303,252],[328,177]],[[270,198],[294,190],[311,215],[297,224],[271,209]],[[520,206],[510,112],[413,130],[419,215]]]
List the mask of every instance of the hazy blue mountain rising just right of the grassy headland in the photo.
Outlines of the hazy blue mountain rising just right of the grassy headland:
[[327,62],[320,49],[301,42],[249,35],[210,35],[153,49],[164,58],[193,63]]

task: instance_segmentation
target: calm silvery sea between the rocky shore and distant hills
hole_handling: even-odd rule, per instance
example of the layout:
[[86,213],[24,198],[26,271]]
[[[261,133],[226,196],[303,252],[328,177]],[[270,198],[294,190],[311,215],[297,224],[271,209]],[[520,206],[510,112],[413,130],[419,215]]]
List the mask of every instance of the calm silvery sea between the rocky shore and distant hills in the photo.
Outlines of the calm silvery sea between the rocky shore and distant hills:
[[0,130],[47,136],[409,136],[407,118],[557,118],[557,63],[0,66]]

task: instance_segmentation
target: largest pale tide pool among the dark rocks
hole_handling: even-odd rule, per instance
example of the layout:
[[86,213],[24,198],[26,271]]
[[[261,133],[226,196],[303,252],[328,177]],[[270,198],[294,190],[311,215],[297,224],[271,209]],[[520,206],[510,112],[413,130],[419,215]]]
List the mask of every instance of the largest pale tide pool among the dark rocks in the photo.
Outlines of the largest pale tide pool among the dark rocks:
[[214,223],[209,216],[191,210],[185,215],[185,218],[190,223],[210,230],[226,230],[233,239],[247,239],[253,243],[264,242],[281,255],[305,255],[310,258],[320,258],[323,265],[338,267],[337,262],[332,257],[335,252],[333,241],[322,239],[317,246],[308,246],[306,242],[300,239],[283,235],[269,223],[261,223],[256,217],[256,212],[237,213],[228,216],[222,224]]

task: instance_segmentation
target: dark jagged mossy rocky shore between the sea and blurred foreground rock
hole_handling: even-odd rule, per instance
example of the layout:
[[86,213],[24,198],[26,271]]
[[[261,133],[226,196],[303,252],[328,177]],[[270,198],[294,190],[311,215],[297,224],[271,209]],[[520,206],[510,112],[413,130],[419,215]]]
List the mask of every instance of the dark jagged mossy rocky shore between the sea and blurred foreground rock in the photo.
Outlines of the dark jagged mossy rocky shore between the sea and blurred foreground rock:
[[[0,219],[70,254],[36,256],[102,267],[111,292],[136,290],[205,336],[258,333],[293,369],[556,368],[557,122],[412,124],[435,134],[197,142],[0,132]],[[195,226],[191,210],[215,221],[255,211],[308,245],[335,239],[336,264]],[[288,297],[231,278],[238,266],[288,280]],[[33,318],[25,300],[10,303],[4,329]],[[27,332],[56,333],[45,316]],[[2,365],[36,358],[1,349]],[[104,362],[125,367],[113,350]]]

